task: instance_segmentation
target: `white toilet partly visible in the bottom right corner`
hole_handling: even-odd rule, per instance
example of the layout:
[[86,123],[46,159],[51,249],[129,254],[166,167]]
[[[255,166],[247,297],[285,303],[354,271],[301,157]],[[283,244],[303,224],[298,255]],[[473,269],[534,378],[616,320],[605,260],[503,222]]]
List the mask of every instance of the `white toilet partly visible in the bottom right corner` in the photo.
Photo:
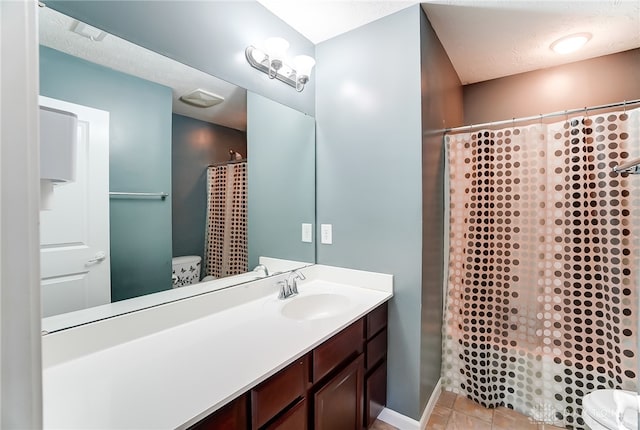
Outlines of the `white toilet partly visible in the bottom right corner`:
[[633,391],[596,390],[582,399],[582,419],[591,430],[637,430],[639,399]]

